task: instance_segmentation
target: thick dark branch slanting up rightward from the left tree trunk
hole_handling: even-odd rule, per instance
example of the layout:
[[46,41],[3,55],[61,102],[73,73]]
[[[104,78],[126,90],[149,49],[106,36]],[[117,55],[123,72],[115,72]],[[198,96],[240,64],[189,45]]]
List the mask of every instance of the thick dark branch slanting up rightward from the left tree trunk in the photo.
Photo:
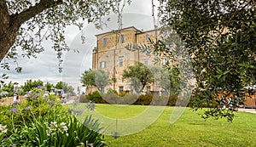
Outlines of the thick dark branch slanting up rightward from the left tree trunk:
[[62,0],[41,0],[40,3],[37,3],[35,6],[32,6],[24,11],[20,12],[20,14],[11,15],[12,24],[16,27],[20,27],[26,20],[31,19],[32,17],[40,14],[47,8],[53,8],[59,4],[62,4]]

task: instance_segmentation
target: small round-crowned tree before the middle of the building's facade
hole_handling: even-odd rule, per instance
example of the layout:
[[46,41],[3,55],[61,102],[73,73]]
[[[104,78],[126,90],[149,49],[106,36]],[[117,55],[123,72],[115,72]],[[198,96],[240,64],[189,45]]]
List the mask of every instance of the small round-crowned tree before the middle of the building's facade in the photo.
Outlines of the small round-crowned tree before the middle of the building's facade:
[[152,72],[142,63],[128,66],[128,69],[123,71],[122,76],[124,79],[130,80],[131,87],[134,88],[137,93],[141,93],[146,85],[154,82]]

